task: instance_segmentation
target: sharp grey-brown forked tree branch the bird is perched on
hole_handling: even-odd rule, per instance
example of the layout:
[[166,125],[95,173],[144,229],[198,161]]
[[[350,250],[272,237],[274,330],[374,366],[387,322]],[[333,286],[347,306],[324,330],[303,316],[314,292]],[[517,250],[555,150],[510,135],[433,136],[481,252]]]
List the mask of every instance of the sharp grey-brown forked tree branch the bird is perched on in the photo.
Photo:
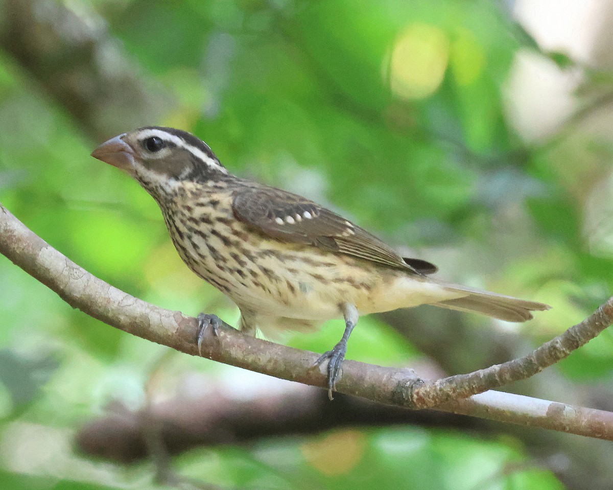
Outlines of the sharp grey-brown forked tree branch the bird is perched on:
[[[197,323],[130,296],[77,266],[30,231],[0,204],[0,253],[53,289],[72,307],[133,335],[196,355]],[[343,363],[338,391],[405,408],[437,407],[498,421],[546,427],[613,440],[613,413],[517,395],[485,392],[538,373],[593,339],[613,321],[613,298],[587,320],[545,343],[524,358],[476,372],[424,381],[412,370]],[[318,354],[242,335],[224,325],[205,339],[203,356],[307,385],[326,386]],[[485,392],[485,393],[484,393]],[[471,395],[479,394],[470,399]]]

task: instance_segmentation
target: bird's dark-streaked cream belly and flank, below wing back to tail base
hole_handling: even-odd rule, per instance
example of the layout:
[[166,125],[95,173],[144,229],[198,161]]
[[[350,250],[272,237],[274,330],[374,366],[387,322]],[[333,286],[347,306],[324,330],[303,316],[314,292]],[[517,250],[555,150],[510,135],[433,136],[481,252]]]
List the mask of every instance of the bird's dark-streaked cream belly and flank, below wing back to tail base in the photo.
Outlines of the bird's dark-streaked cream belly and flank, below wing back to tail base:
[[243,230],[204,229],[175,247],[183,261],[241,309],[262,316],[314,323],[342,318],[342,305],[360,314],[440,301],[440,286],[410,278],[403,270],[382,267],[298,243],[257,238]]

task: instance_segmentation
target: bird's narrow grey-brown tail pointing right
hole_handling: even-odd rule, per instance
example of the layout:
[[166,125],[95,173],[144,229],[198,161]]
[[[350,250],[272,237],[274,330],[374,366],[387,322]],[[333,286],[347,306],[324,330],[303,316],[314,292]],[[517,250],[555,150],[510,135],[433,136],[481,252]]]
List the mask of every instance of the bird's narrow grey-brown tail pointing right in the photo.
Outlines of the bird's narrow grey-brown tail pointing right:
[[449,310],[482,313],[483,315],[506,321],[527,321],[532,318],[532,313],[530,312],[549,310],[551,308],[549,305],[536,301],[527,301],[512,296],[504,296],[504,294],[482,291],[482,289],[444,283],[443,281],[436,282],[449,291],[468,293],[466,296],[457,299],[447,299],[446,301],[433,303],[435,306],[449,308]]

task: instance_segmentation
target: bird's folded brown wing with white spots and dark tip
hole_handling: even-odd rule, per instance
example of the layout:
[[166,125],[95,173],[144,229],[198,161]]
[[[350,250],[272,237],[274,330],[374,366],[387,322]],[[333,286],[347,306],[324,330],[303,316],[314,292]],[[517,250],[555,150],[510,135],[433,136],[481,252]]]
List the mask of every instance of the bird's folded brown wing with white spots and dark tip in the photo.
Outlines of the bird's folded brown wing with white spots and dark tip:
[[278,240],[308,243],[416,274],[430,274],[429,262],[403,260],[375,235],[296,194],[272,187],[243,188],[234,194],[234,215]]

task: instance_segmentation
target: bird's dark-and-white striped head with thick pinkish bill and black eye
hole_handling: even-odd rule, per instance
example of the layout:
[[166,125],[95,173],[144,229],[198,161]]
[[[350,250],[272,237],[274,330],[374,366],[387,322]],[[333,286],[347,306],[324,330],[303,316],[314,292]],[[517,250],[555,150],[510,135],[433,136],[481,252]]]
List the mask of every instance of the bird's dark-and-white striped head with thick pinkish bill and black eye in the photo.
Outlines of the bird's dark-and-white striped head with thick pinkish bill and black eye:
[[126,170],[145,188],[186,180],[215,180],[227,174],[204,141],[187,131],[159,126],[115,136],[91,156]]

